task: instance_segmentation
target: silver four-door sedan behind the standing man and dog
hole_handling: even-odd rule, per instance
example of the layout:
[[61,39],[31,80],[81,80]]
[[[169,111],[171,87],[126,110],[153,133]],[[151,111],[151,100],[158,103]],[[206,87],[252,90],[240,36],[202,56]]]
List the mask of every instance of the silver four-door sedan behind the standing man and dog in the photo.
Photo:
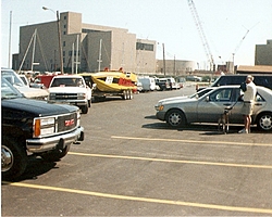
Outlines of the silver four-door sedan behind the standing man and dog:
[[[190,123],[218,123],[224,108],[235,104],[230,115],[231,124],[244,124],[242,115],[243,98],[239,86],[221,86],[200,98],[161,101],[154,107],[158,119],[171,127],[183,127]],[[272,130],[272,90],[257,86],[252,125]]]

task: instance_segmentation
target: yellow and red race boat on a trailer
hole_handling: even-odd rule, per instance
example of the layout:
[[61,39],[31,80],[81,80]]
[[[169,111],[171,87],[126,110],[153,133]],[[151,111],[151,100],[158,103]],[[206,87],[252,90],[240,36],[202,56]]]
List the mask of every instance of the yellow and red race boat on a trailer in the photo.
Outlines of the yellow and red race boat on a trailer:
[[[89,86],[95,86],[92,95],[106,98],[107,95],[121,95],[124,100],[133,99],[133,92],[137,90],[137,75],[119,71],[79,74]],[[95,84],[95,85],[94,85]]]

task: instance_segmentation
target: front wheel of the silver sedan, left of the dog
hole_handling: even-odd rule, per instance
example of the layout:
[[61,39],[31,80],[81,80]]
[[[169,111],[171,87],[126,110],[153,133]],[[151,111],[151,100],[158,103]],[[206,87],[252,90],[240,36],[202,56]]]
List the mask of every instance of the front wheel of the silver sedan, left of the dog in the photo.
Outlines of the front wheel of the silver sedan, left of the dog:
[[166,123],[173,128],[184,127],[186,118],[181,110],[171,110],[166,113]]

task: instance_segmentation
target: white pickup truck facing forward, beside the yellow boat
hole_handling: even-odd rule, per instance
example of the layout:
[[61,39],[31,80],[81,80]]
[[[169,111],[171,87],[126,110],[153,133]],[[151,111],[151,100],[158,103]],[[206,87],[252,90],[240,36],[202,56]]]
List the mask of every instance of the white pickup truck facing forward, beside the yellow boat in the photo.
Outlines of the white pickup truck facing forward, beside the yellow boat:
[[50,103],[66,103],[78,106],[83,114],[91,104],[91,89],[79,75],[58,75],[49,85]]

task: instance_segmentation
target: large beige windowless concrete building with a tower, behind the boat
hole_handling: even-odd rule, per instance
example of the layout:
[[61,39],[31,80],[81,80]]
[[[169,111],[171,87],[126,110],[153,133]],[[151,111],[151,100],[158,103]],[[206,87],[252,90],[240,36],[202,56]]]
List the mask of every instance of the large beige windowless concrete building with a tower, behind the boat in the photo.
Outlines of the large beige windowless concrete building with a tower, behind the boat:
[[[104,67],[156,72],[153,40],[137,39],[124,28],[82,23],[82,14],[74,12],[60,14],[60,29],[65,73],[98,72]],[[60,71],[60,60],[58,22],[20,28],[20,53],[13,58],[14,69],[55,72]]]

